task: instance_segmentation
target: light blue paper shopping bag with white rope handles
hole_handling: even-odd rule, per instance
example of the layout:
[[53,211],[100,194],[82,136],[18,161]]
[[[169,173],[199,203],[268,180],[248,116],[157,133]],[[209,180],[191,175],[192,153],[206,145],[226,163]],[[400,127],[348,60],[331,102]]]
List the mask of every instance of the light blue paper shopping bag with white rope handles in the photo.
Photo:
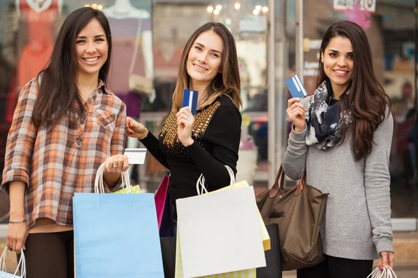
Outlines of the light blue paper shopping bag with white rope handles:
[[103,167],[95,193],[73,197],[77,278],[164,277],[153,194],[97,194],[104,193]]

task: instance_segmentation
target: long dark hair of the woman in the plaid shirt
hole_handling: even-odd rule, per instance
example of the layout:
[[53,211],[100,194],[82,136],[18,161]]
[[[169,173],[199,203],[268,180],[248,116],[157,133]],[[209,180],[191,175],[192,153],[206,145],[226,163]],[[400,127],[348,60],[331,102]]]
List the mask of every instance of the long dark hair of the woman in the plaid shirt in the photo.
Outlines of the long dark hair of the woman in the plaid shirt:
[[93,19],[97,19],[104,29],[109,46],[107,60],[99,72],[99,79],[107,82],[111,60],[109,22],[100,10],[79,8],[65,19],[56,38],[49,64],[38,74],[39,91],[32,114],[36,128],[42,124],[54,126],[65,114],[70,116],[75,113],[81,118],[85,116],[84,104],[77,88],[79,65],[75,46],[77,34]]

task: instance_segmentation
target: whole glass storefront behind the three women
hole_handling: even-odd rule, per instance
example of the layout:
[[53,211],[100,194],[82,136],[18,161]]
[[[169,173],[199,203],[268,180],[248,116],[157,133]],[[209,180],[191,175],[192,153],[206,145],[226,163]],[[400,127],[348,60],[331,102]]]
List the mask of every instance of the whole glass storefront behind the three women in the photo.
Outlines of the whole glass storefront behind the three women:
[[[415,1],[354,2],[359,4],[338,0],[0,1],[0,170],[20,89],[47,63],[65,17],[89,5],[106,13],[111,24],[111,89],[127,104],[127,114],[155,134],[171,107],[178,63],[189,36],[210,21],[222,22],[230,29],[238,49],[244,104],[238,179],[254,184],[257,193],[265,190],[272,185],[272,173],[279,167],[291,129],[285,113],[290,95],[284,80],[297,72],[297,60],[302,58],[303,73],[297,73],[304,76],[308,92],[314,92],[320,40],[330,24],[348,19],[366,30],[376,75],[392,99],[392,216],[411,220],[407,222],[415,223],[416,229]],[[302,57],[296,41],[300,3]],[[132,92],[132,73],[153,79],[155,94]],[[127,147],[141,144],[127,140]],[[148,192],[155,191],[164,174],[167,169],[150,155],[145,165],[131,170],[132,183]],[[0,222],[7,223],[7,213],[8,197],[1,193]]]

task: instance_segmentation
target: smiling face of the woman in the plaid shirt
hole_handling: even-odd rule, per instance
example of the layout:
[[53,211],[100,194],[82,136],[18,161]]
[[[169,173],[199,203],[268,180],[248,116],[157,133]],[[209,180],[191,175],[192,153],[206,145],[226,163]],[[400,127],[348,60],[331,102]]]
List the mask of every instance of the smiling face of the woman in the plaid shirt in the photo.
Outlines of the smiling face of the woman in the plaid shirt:
[[107,39],[97,19],[92,19],[77,34],[75,49],[79,75],[99,75],[100,68],[107,60]]

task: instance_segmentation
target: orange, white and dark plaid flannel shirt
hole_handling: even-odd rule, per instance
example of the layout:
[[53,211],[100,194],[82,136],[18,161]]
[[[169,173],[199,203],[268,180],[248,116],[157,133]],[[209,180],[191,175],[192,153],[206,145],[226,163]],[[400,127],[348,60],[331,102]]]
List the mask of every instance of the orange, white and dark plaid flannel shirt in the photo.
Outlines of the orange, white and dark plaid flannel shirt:
[[49,131],[45,125],[36,129],[31,117],[38,96],[37,78],[20,92],[8,133],[1,188],[8,193],[10,181],[26,183],[29,229],[38,218],[70,226],[74,193],[94,192],[100,164],[109,156],[123,154],[125,104],[99,80],[84,105],[85,120],[77,118],[77,129],[68,127],[66,116]]

